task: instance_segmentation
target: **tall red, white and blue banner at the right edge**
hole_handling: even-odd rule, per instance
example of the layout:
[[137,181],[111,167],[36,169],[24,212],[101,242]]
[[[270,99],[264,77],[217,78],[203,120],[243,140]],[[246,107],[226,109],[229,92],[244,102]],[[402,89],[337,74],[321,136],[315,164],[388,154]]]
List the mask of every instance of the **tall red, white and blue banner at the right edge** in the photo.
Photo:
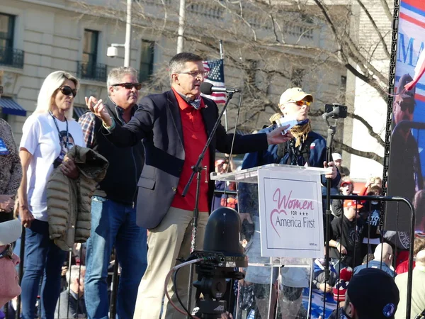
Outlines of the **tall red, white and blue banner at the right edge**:
[[[387,195],[414,203],[417,234],[425,232],[424,42],[425,1],[401,0]],[[385,229],[408,232],[410,218],[406,204],[388,203]],[[405,246],[408,236],[399,240]]]

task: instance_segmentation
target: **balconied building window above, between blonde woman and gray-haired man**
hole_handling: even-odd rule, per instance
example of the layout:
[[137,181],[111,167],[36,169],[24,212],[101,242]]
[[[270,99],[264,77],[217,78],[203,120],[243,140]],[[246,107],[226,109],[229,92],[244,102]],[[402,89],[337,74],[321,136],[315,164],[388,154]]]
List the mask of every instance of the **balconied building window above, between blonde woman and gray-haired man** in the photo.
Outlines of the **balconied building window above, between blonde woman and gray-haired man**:
[[99,31],[84,30],[83,60],[77,74],[81,79],[106,82],[106,65],[97,62]]

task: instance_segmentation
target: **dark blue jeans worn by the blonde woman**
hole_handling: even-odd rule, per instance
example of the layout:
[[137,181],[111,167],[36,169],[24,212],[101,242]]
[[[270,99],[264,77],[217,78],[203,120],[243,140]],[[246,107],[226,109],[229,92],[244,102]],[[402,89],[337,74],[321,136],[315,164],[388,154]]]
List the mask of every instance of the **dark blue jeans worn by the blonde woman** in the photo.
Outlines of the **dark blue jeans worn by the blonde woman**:
[[26,229],[24,273],[22,278],[22,318],[38,318],[35,313],[40,279],[41,286],[41,318],[52,319],[55,315],[57,299],[60,295],[61,271],[66,252],[60,250],[49,238],[49,224],[41,220],[33,220]]

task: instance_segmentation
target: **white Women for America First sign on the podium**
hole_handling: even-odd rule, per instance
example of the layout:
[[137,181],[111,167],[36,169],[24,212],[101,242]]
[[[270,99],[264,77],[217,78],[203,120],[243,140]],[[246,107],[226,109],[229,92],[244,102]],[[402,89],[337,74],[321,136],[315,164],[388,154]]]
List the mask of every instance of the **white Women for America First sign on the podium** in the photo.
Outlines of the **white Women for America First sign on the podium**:
[[258,171],[263,257],[324,257],[322,172],[303,173],[290,167]]

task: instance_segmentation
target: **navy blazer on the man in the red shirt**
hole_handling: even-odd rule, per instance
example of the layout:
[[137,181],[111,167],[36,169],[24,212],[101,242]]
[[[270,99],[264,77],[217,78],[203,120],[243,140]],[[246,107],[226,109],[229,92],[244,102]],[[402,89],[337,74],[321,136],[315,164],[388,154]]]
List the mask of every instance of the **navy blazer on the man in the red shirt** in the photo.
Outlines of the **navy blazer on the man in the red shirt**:
[[[203,97],[201,109],[205,130],[210,135],[218,118],[217,104]],[[137,183],[137,225],[152,229],[161,223],[176,194],[183,168],[185,151],[179,104],[174,91],[145,96],[127,124],[115,123],[115,129],[102,133],[118,147],[129,147],[143,139],[145,165]],[[210,172],[214,172],[215,150],[230,153],[233,134],[219,125],[209,147]],[[233,154],[266,150],[267,136],[263,134],[236,135]],[[125,165],[125,163],[123,163]],[[196,183],[196,180],[193,180]],[[214,181],[209,182],[208,207],[211,207]]]

